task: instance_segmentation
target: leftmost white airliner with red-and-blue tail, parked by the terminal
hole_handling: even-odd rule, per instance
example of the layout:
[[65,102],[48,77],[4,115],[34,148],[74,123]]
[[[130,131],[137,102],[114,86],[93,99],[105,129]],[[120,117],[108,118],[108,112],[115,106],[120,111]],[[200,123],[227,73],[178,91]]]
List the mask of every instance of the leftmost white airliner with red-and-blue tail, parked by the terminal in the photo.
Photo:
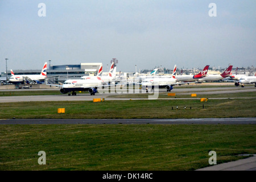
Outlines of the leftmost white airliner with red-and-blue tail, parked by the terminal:
[[9,83],[20,84],[20,83],[31,83],[31,84],[42,84],[46,79],[46,69],[47,62],[44,63],[43,69],[40,75],[14,75],[13,70],[11,69],[11,77],[9,78]]

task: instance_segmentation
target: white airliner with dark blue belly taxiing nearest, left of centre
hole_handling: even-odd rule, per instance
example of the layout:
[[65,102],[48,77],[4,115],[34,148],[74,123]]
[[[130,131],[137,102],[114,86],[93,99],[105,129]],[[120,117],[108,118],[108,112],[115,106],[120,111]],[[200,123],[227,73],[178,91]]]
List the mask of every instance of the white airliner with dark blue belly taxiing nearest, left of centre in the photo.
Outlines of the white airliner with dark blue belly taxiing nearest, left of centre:
[[[68,96],[76,96],[76,91],[88,91],[91,96],[94,96],[97,93],[97,89],[100,87],[105,86],[113,86],[108,85],[106,82],[101,80],[101,73],[102,73],[102,65],[98,70],[97,76],[88,78],[88,79],[76,79],[76,80],[66,80],[63,85],[53,85],[53,84],[46,84],[52,86],[59,86],[60,93],[65,94],[68,93]],[[116,85],[116,84],[114,84]]]

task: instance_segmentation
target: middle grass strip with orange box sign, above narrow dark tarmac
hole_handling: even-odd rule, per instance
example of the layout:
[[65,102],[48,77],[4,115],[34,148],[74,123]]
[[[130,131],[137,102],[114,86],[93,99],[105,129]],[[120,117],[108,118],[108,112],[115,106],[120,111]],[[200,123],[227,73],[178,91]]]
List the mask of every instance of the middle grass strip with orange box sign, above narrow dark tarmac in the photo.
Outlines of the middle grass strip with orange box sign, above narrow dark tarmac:
[[[256,117],[255,107],[256,98],[209,99],[208,102],[200,102],[200,99],[10,102],[0,105],[0,119],[13,117],[74,119]],[[65,113],[57,113],[58,108],[65,108]]]

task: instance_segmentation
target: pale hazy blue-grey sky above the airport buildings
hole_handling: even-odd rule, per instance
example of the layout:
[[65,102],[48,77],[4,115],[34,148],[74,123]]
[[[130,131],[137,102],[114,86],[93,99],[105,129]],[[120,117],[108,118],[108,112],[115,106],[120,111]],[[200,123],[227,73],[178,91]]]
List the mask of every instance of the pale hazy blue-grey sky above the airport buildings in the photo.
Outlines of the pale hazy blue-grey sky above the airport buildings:
[[[40,17],[39,3],[46,5]],[[209,16],[210,3],[216,15]],[[102,62],[117,71],[155,66],[256,66],[256,1],[0,0],[0,72]]]

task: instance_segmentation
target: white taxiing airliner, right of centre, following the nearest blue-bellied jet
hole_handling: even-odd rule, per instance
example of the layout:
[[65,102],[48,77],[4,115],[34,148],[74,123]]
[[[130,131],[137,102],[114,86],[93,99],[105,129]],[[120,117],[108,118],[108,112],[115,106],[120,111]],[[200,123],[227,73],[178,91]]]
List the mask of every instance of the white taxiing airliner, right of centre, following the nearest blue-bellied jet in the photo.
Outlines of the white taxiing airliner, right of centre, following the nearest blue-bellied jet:
[[[166,88],[167,92],[171,92],[174,85],[183,85],[188,84],[188,82],[177,82],[176,79],[176,65],[174,66],[174,71],[172,72],[171,77],[155,77],[155,78],[146,78],[142,81],[142,89],[147,90],[148,86],[150,86],[152,89],[154,89],[155,86],[158,86],[159,88]],[[189,82],[189,83],[197,83],[195,82]],[[157,85],[155,85],[157,84]]]

